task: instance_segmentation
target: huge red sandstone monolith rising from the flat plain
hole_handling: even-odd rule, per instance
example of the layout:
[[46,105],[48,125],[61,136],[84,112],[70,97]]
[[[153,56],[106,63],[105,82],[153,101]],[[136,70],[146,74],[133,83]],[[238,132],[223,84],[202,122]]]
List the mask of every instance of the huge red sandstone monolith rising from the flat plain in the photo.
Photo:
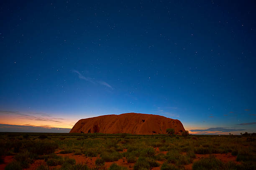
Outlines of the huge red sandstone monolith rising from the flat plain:
[[182,123],[159,115],[124,113],[103,115],[79,120],[70,133],[130,133],[138,135],[166,134],[173,128],[175,134],[185,131]]

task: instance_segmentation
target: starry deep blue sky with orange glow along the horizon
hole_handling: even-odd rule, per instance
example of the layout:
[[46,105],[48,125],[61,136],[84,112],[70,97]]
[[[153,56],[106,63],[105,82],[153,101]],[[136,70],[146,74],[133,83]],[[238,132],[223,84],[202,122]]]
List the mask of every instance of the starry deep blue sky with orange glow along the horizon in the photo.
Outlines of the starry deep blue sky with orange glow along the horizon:
[[0,131],[138,112],[256,132],[254,1],[1,1]]

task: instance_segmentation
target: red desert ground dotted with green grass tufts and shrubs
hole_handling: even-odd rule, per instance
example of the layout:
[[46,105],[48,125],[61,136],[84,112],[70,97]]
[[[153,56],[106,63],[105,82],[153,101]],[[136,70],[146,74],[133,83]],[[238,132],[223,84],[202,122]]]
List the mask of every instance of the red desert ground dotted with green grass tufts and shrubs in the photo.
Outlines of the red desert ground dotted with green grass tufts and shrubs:
[[0,170],[255,170],[256,136],[0,133]]

